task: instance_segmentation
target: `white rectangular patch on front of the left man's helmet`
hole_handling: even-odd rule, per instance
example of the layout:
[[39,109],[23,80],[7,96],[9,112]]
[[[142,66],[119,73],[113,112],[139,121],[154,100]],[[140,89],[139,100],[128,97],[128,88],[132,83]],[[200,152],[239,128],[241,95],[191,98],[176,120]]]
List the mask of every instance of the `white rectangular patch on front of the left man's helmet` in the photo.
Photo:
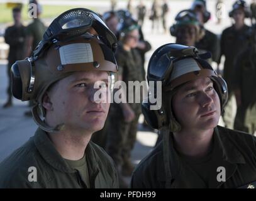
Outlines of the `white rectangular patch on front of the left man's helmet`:
[[90,43],[64,45],[60,47],[59,51],[62,65],[93,62],[92,47]]

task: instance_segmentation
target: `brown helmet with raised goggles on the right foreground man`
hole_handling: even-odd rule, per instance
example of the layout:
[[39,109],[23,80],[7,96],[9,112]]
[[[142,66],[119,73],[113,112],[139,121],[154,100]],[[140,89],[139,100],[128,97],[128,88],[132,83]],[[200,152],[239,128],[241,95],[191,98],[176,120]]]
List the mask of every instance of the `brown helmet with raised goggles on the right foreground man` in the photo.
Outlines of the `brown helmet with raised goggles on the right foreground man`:
[[[200,55],[193,46],[184,46],[175,43],[162,45],[153,53],[148,62],[147,80],[162,82],[164,92],[175,92],[180,85],[196,80],[201,77],[209,77],[213,81],[214,89],[220,97],[221,112],[228,99],[228,88],[225,80],[218,77],[206,58],[211,57],[210,53]],[[151,94],[149,89],[149,95]],[[152,94],[157,94],[153,92]],[[160,129],[163,126],[170,126],[171,131],[180,129],[179,123],[175,120],[172,109],[170,119],[167,119],[167,109],[162,105],[156,110],[151,110],[150,101],[142,103],[142,112],[146,121],[152,128]]]

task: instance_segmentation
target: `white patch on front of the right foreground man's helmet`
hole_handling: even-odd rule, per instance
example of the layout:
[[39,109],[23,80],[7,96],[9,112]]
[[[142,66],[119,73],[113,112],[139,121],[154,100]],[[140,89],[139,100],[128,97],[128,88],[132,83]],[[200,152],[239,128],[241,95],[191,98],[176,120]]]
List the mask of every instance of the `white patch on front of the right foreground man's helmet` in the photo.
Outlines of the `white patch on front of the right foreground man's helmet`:
[[179,60],[174,63],[174,70],[172,72],[170,80],[174,80],[181,75],[198,70],[201,70],[201,68],[198,66],[198,63],[196,63],[194,59],[186,58]]

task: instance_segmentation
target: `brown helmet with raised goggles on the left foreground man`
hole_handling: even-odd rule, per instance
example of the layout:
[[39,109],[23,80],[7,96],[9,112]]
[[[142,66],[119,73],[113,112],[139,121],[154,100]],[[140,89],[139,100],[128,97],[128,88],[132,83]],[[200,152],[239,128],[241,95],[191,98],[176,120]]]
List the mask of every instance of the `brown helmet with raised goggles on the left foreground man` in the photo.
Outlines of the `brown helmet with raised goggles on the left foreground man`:
[[118,71],[114,51],[116,36],[93,11],[76,8],[60,14],[48,27],[43,40],[32,56],[17,61],[11,67],[11,90],[17,99],[33,100],[33,118],[47,132],[48,127],[40,119],[43,94],[53,83],[73,72],[103,70],[108,72],[111,90]]

